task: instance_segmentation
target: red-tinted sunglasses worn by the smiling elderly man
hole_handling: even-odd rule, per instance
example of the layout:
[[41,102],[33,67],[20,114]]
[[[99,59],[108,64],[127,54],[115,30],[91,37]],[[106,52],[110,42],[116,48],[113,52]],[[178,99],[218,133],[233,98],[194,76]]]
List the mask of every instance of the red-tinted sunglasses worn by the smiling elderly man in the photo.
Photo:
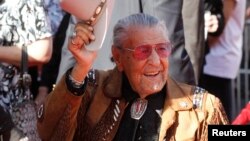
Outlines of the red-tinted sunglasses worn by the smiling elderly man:
[[141,45],[134,49],[131,48],[120,48],[120,49],[132,51],[134,58],[137,60],[145,60],[151,55],[153,47],[160,58],[167,58],[171,53],[172,44],[170,42],[166,42],[155,45]]

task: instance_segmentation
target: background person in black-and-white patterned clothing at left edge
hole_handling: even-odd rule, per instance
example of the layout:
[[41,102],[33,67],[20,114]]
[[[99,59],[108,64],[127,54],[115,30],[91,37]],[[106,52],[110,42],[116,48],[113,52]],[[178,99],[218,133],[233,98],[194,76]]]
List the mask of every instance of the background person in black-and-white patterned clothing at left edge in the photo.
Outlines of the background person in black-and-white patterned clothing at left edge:
[[[52,54],[52,32],[42,0],[1,1],[0,13],[0,106],[4,111],[0,114],[2,130],[6,129],[3,123],[13,122],[11,117],[5,117],[12,114],[12,107],[24,102],[27,95],[32,96],[30,90],[21,93],[18,83],[22,46],[27,46],[29,66],[47,63]],[[7,124],[10,126],[3,133],[3,140],[19,140],[20,136],[12,138],[11,130],[15,128],[28,138],[36,132],[29,128],[36,125],[17,127],[17,124],[22,123]],[[36,141],[39,138],[36,136],[30,140]]]

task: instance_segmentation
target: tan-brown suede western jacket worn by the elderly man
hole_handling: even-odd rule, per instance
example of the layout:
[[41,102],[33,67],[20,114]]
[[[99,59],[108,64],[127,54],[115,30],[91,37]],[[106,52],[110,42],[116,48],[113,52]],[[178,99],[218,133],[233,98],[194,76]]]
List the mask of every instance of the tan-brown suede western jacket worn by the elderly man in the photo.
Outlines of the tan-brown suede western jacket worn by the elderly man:
[[[96,71],[83,96],[73,95],[65,76],[39,109],[38,131],[44,141],[112,141],[128,105],[121,97],[121,73]],[[229,124],[221,102],[194,86],[169,77],[159,141],[207,140],[209,124]],[[149,121],[150,122],[150,121]]]

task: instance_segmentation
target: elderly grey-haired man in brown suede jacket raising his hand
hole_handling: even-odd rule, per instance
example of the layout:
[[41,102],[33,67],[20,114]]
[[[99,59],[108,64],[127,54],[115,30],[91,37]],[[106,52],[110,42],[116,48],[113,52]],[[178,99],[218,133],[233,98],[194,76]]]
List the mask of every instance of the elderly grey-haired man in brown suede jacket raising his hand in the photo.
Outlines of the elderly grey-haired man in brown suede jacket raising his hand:
[[[91,70],[92,27],[78,23],[69,69],[39,110],[43,140],[207,140],[208,124],[228,124],[218,98],[169,77],[171,42],[155,17],[135,14],[113,31],[116,67]],[[188,127],[188,130],[187,130]]]

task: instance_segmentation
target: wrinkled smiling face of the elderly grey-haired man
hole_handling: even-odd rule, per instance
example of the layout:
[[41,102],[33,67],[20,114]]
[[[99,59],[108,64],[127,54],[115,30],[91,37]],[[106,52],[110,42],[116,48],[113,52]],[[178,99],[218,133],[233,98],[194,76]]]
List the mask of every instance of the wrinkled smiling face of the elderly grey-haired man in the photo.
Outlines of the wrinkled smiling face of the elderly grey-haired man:
[[119,70],[125,72],[133,90],[144,98],[161,91],[166,84],[168,57],[159,55],[160,52],[156,51],[155,47],[162,43],[169,43],[169,40],[159,26],[136,27],[129,33],[129,39],[125,41],[123,48],[134,50],[142,45],[152,47],[152,52],[146,58],[134,51],[122,49],[119,50],[119,57],[116,59]]

